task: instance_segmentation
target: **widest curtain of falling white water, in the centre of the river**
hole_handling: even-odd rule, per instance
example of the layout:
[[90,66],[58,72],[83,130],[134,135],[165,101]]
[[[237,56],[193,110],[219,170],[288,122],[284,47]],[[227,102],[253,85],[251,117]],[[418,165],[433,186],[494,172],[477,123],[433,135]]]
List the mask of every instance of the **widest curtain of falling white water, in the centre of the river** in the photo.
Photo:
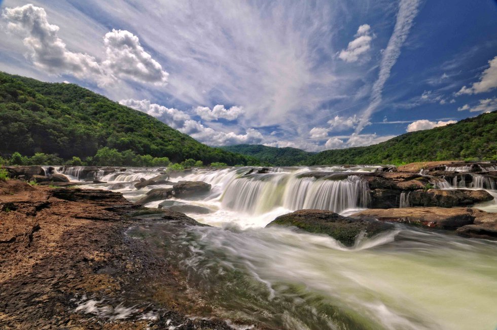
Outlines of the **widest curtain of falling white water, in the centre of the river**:
[[224,207],[251,214],[261,214],[278,206],[340,212],[367,207],[368,202],[368,185],[357,175],[342,180],[299,178],[288,173],[247,175],[232,180],[222,197]]

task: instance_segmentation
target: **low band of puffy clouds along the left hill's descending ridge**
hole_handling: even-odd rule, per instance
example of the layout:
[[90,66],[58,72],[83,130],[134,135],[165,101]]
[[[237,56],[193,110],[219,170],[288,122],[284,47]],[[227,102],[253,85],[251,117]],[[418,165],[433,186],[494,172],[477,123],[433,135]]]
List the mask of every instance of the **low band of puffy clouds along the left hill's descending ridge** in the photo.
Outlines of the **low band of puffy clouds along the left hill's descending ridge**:
[[149,114],[172,128],[188,134],[194,139],[208,145],[229,145],[239,143],[257,144],[264,138],[259,131],[253,128],[248,128],[244,134],[216,131],[210,127],[204,126],[199,121],[191,119],[190,115],[181,110],[151,103],[149,100],[127,99],[121,100],[119,103]]

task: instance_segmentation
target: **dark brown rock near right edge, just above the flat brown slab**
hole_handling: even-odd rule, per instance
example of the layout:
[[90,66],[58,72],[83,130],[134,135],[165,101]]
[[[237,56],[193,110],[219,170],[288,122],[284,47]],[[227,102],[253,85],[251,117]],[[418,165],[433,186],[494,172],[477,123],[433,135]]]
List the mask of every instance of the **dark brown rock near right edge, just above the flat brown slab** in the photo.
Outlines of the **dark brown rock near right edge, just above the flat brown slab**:
[[429,189],[428,191],[413,191],[409,195],[411,206],[465,206],[479,202],[491,201],[493,196],[485,190],[468,189]]

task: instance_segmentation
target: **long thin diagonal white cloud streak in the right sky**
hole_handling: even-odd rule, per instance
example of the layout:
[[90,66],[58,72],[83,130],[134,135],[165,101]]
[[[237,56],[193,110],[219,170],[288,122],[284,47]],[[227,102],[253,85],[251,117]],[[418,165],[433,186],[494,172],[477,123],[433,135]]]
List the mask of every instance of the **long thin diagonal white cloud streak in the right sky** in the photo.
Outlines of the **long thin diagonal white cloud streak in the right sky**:
[[400,56],[400,49],[402,44],[404,44],[407,39],[407,35],[409,34],[414,18],[418,13],[418,7],[419,0],[401,0],[399,4],[399,12],[397,13],[394,33],[390,36],[388,45],[383,51],[378,80],[376,80],[373,85],[369,106],[366,108],[361,117],[361,122],[356,128],[356,133],[361,132],[363,128],[366,127],[372,113],[381,103],[383,86],[385,85],[386,80],[390,77],[390,71]]

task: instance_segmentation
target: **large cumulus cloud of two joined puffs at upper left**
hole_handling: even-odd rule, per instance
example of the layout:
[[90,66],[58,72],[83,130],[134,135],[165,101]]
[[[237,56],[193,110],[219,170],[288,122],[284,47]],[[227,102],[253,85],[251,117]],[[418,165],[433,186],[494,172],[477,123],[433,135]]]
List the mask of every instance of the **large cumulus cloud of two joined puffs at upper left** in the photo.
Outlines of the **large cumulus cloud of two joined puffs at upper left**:
[[105,34],[103,62],[84,53],[67,49],[57,36],[59,27],[50,24],[44,8],[31,4],[6,8],[2,17],[8,21],[9,31],[23,37],[33,64],[49,74],[70,74],[80,79],[96,80],[99,85],[116,78],[164,84],[167,72],[152,59],[137,36],[126,30],[112,30]]

